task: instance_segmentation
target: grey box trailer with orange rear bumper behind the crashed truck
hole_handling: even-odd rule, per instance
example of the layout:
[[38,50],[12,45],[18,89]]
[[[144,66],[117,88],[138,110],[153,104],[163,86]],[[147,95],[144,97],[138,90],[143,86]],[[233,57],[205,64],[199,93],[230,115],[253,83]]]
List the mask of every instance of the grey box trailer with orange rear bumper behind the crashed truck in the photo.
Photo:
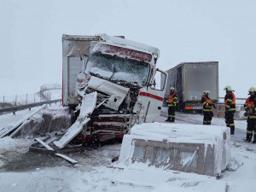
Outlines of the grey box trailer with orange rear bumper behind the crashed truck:
[[165,98],[169,95],[169,88],[174,87],[179,110],[201,110],[204,90],[210,91],[212,102],[218,102],[218,61],[183,62],[166,73],[167,83],[161,79],[161,84],[166,84]]

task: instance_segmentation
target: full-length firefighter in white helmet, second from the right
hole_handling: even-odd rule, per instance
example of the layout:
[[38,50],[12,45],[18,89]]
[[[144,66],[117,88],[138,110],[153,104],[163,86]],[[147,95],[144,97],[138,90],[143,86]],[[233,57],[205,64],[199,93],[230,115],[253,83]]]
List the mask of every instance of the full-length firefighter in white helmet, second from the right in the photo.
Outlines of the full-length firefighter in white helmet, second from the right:
[[230,127],[230,134],[235,134],[235,124],[234,124],[234,113],[236,112],[236,96],[233,93],[230,85],[224,87],[226,95],[224,97],[225,105],[225,122],[227,127]]

